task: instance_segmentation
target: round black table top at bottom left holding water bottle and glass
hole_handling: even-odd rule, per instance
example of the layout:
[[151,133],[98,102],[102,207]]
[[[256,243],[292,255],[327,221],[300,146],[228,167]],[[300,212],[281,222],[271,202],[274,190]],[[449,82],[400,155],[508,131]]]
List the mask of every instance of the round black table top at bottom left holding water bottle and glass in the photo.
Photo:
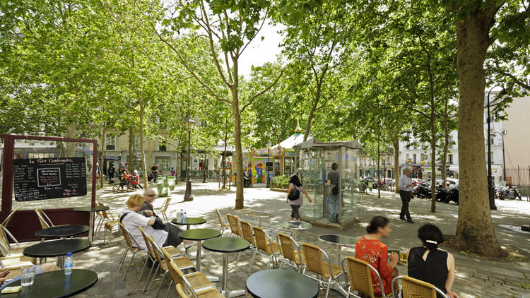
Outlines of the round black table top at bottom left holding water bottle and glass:
[[[63,270],[51,271],[35,275],[33,285],[22,287],[22,291],[11,294],[1,294],[1,297],[39,297],[60,298],[70,297],[86,291],[98,281],[98,274],[86,269],[73,269],[71,275],[64,275]],[[20,280],[9,287],[20,285]]]

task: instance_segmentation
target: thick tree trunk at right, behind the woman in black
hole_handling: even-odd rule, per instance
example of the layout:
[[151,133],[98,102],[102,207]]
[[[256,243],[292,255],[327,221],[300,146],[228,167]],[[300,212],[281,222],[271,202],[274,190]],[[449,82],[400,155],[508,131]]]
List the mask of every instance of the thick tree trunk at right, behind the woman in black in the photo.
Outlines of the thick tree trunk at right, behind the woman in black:
[[495,4],[477,8],[466,20],[457,20],[460,206],[455,244],[483,256],[505,255],[493,230],[484,158],[484,56],[497,9]]

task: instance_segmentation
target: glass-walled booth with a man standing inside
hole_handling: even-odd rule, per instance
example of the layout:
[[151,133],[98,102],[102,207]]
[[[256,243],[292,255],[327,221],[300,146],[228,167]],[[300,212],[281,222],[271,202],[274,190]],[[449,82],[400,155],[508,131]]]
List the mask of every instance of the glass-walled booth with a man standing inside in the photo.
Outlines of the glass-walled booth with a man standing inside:
[[[294,146],[297,153],[298,174],[312,203],[305,199],[300,217],[312,225],[343,229],[358,222],[362,215],[362,196],[358,191],[359,153],[357,141],[324,143],[314,138]],[[331,165],[338,165],[338,224],[329,221],[326,186]]]

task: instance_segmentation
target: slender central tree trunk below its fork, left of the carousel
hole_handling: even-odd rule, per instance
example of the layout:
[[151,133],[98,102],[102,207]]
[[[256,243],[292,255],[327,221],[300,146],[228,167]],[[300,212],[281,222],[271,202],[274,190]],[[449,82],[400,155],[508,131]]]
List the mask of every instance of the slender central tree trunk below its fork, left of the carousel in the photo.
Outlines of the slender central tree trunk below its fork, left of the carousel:
[[241,114],[239,107],[239,98],[237,95],[237,85],[230,88],[232,91],[232,112],[234,114],[234,144],[235,144],[235,171],[236,171],[236,189],[235,189],[235,208],[245,208],[245,198],[243,196],[243,182],[245,175],[243,173],[243,150],[241,146]]

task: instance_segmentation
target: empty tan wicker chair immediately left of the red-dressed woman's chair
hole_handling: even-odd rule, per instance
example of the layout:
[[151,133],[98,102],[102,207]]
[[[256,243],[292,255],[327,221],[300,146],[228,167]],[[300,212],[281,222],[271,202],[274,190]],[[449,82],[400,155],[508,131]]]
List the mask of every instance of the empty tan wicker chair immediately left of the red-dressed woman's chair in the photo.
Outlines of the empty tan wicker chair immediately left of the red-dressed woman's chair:
[[[329,287],[331,286],[331,280],[337,280],[342,275],[341,266],[337,266],[329,262],[329,257],[325,251],[319,246],[302,243],[302,248],[305,254],[305,272],[309,271],[316,273],[319,278],[314,278],[311,275],[305,274],[307,277],[327,284],[326,287],[326,298],[329,294]],[[322,258],[322,255],[326,257],[326,261]]]

